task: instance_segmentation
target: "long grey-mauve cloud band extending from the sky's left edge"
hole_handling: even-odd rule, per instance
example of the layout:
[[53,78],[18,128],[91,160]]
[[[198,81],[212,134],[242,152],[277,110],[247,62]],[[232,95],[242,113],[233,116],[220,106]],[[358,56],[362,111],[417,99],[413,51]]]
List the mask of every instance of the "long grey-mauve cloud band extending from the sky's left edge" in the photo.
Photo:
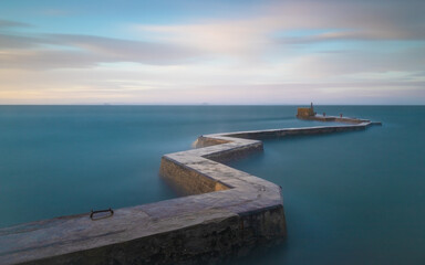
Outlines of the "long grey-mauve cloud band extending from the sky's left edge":
[[154,65],[189,63],[201,56],[173,43],[141,42],[77,34],[0,35],[0,67],[75,68],[100,63],[135,62]]

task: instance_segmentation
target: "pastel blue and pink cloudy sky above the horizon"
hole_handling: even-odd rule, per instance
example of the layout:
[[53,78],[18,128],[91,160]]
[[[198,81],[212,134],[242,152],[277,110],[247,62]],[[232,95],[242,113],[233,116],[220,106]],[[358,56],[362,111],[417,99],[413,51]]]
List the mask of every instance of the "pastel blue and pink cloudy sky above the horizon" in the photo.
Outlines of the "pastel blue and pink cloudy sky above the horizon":
[[425,1],[1,0],[0,104],[425,104]]

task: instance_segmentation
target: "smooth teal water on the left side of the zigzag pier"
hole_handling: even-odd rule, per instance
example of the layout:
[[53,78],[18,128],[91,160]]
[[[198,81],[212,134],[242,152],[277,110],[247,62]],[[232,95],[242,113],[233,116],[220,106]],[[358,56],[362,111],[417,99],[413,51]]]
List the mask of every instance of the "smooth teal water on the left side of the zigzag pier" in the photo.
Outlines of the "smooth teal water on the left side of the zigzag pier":
[[175,198],[160,157],[199,135],[305,126],[293,107],[0,106],[0,227]]

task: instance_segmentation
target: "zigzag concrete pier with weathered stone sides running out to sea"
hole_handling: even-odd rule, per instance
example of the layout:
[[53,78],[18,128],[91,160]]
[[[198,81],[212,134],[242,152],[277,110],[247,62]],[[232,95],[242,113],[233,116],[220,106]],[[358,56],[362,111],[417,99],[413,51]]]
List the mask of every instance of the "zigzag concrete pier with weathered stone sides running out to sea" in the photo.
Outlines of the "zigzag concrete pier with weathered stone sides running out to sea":
[[332,127],[201,136],[197,149],[165,155],[163,178],[187,197],[0,229],[0,264],[190,264],[243,255],[287,234],[281,189],[221,162],[261,151],[260,139],[363,130]]

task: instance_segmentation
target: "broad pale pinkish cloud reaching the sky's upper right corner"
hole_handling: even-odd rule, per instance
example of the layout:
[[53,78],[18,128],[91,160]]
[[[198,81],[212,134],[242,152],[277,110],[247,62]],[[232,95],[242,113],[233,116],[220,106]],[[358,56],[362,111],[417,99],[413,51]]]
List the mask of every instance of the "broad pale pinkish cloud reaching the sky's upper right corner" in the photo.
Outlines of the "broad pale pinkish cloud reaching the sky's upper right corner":
[[[250,52],[274,39],[283,43],[334,40],[425,40],[422,1],[287,1],[263,8],[252,18],[200,20],[189,24],[141,24],[141,33],[216,52]],[[320,34],[286,38],[294,30]],[[276,36],[276,33],[281,36]]]

